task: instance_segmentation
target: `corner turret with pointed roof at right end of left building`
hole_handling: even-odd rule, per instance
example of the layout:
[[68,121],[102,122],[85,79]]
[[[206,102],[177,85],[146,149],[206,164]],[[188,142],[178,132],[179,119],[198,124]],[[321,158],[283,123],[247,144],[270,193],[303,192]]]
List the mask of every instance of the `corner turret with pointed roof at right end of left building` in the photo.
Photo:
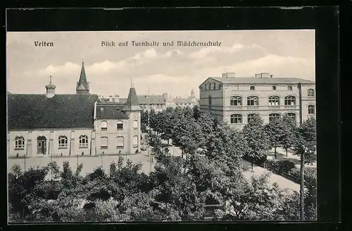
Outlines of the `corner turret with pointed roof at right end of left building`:
[[128,116],[127,127],[129,128],[127,147],[128,152],[135,154],[141,150],[141,112],[142,107],[139,105],[137,93],[134,84],[131,81],[130,92],[123,107],[123,111]]

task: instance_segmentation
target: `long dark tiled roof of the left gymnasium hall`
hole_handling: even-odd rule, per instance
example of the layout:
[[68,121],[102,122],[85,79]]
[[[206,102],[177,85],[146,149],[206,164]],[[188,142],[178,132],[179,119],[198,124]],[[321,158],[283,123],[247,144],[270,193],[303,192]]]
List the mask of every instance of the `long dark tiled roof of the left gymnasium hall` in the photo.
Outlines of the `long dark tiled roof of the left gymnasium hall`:
[[93,128],[98,95],[8,95],[8,129]]

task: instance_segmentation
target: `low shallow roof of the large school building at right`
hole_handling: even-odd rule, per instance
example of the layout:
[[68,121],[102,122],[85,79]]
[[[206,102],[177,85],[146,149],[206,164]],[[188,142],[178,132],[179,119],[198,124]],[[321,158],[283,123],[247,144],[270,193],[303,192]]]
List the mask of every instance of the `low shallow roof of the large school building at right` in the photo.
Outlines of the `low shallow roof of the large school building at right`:
[[222,82],[223,84],[314,84],[314,81],[307,79],[299,79],[292,77],[272,77],[272,78],[222,78],[222,77],[210,77]]

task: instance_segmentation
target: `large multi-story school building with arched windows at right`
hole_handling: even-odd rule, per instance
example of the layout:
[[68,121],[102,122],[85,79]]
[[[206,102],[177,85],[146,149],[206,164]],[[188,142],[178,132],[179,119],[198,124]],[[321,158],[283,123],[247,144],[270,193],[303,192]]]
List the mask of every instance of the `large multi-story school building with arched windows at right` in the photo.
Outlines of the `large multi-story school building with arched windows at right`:
[[209,77],[199,90],[201,111],[210,112],[234,128],[243,128],[254,114],[259,114],[265,124],[282,114],[297,123],[315,115],[315,82],[306,79],[273,77],[269,73],[239,78],[227,72],[222,77]]

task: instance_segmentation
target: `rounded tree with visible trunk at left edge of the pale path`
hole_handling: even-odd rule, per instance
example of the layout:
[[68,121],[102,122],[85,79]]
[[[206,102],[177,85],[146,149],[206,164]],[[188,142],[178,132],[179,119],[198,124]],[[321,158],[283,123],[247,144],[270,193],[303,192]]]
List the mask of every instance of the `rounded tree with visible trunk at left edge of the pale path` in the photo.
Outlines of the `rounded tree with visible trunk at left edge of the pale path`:
[[263,127],[263,119],[256,115],[244,126],[242,133],[248,145],[246,156],[251,159],[253,171],[253,160],[265,157],[265,152],[269,149],[268,138]]

